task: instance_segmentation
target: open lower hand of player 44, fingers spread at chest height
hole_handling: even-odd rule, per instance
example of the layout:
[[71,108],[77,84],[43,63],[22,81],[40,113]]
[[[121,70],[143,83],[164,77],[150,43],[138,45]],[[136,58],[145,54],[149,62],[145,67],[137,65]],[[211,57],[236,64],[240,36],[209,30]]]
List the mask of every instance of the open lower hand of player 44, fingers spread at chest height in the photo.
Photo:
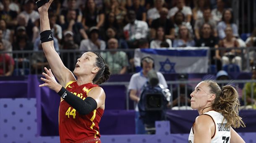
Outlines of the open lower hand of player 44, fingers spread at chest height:
[[57,83],[54,75],[52,74],[52,70],[51,69],[48,70],[46,67],[44,67],[44,70],[46,71],[47,74],[43,72],[42,74],[45,77],[45,79],[41,77],[41,80],[44,81],[45,83],[40,84],[39,87],[47,86],[50,89],[54,90],[55,92],[59,92],[62,86]]

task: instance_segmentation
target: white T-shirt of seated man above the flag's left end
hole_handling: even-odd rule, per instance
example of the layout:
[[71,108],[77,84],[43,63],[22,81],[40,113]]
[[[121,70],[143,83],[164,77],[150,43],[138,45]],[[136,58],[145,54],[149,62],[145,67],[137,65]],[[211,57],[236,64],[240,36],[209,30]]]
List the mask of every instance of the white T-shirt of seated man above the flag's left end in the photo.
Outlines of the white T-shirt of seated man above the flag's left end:
[[123,31],[127,31],[129,35],[129,40],[138,40],[141,38],[146,38],[149,26],[145,21],[135,20],[134,24],[128,23]]

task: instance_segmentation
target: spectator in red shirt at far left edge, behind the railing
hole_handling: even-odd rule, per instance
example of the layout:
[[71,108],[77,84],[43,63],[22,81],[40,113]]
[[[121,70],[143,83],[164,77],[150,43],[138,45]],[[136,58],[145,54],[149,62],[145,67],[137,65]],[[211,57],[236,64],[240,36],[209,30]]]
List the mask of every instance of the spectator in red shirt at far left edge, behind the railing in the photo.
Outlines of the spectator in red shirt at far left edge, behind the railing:
[[[0,40],[0,52],[4,50],[3,41]],[[0,76],[10,76],[13,74],[14,61],[8,54],[0,54]]]

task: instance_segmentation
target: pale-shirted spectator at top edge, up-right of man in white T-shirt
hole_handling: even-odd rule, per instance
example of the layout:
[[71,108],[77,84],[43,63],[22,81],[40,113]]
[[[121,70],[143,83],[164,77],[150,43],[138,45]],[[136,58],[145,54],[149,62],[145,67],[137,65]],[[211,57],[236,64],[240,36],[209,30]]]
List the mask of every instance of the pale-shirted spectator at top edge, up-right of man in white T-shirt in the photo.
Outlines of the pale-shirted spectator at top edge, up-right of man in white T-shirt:
[[[154,0],[154,8],[150,8],[147,12],[147,20],[148,20],[149,26],[151,26],[151,23],[153,20],[160,17],[160,11],[162,10],[164,3],[165,3],[165,0]],[[167,14],[168,14],[168,11],[167,11]]]

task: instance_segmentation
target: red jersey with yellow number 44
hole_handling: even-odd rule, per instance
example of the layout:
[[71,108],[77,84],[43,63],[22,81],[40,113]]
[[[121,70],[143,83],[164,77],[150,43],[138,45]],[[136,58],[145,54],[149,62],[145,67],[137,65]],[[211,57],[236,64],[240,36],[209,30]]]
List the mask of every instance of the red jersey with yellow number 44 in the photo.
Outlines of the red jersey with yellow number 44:
[[[87,93],[97,84],[78,85],[76,82],[68,82],[66,89],[85,100]],[[59,133],[61,143],[84,142],[88,138],[99,138],[99,121],[104,110],[98,108],[87,115],[80,115],[65,100],[61,98],[59,107]]]

